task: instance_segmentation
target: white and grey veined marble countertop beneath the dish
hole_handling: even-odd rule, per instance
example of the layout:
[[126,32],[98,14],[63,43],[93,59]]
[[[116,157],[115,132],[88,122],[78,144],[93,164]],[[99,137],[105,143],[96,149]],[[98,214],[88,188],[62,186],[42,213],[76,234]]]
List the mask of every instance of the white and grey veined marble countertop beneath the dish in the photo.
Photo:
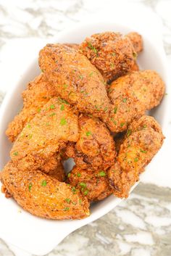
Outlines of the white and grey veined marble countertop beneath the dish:
[[[132,9],[149,7],[162,20],[162,40],[171,72],[170,0],[0,0],[0,102],[22,74],[23,63],[30,62],[58,32],[125,4]],[[33,49],[29,53],[28,47]],[[170,126],[171,122],[168,134]],[[49,256],[171,256],[168,173],[161,170],[153,178],[145,176],[129,199],[67,236]],[[0,256],[11,255],[31,256],[0,239]]]

